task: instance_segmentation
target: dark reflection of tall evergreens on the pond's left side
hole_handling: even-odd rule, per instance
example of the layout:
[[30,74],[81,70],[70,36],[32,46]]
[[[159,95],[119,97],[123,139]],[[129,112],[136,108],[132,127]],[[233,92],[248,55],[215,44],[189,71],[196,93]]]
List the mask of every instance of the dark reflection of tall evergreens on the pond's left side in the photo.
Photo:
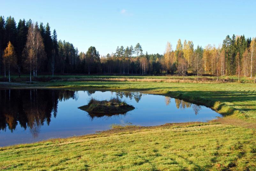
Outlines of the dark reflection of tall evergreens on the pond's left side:
[[0,129],[13,132],[18,122],[37,137],[44,122],[50,124],[57,115],[58,100],[77,99],[69,90],[0,90]]

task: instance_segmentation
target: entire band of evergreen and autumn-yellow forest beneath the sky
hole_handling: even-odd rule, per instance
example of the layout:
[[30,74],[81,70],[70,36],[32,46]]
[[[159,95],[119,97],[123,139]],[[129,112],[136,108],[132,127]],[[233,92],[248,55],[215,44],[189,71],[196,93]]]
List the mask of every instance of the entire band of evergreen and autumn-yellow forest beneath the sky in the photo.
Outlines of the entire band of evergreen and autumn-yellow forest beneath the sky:
[[[10,82],[10,74],[31,77],[51,74],[120,75],[214,75],[248,76],[256,79],[256,40],[229,35],[222,45],[194,47],[179,39],[176,48],[167,42],[164,54],[148,54],[142,46],[117,46],[114,53],[100,55],[96,47],[79,52],[72,43],[57,39],[49,23],[31,19],[0,17],[0,75]],[[9,79],[7,77],[9,76]]]

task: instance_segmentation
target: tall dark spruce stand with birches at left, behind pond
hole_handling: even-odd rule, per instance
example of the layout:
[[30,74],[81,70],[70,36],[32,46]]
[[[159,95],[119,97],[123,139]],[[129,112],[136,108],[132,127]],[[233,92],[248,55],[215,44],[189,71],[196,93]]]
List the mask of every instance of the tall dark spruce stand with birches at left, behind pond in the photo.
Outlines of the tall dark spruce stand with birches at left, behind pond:
[[19,20],[0,16],[0,75],[6,76],[10,70],[19,76],[30,74],[36,77],[38,72],[75,73],[78,61],[78,49],[72,43],[58,40],[49,23],[34,24],[31,19]]

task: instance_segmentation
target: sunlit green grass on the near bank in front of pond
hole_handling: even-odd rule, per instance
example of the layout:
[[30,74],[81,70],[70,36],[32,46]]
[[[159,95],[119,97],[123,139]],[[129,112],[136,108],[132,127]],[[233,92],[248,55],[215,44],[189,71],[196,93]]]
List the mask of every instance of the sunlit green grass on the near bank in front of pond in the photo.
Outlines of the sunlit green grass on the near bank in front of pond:
[[256,170],[251,129],[204,124],[130,127],[0,148],[0,169]]

